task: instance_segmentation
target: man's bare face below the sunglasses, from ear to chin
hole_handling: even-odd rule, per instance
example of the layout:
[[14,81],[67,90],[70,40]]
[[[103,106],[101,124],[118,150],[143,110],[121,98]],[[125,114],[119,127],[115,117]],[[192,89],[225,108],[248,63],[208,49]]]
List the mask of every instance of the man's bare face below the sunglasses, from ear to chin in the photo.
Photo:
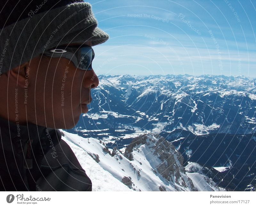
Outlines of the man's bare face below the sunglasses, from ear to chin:
[[[92,45],[89,41],[84,44]],[[34,99],[36,112],[35,124],[51,128],[74,127],[80,114],[88,112],[86,104],[92,101],[91,89],[99,84],[93,70],[84,71],[66,58],[45,55],[30,61],[29,79],[29,94]]]

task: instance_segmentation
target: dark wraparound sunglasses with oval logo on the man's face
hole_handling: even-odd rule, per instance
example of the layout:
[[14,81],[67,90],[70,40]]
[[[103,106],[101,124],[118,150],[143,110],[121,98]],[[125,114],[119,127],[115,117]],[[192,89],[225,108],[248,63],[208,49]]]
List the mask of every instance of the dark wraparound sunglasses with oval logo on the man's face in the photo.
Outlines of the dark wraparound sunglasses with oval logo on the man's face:
[[94,58],[94,51],[91,46],[68,46],[58,47],[44,51],[43,55],[49,57],[64,57],[74,63],[76,68],[85,71],[92,70],[92,60]]

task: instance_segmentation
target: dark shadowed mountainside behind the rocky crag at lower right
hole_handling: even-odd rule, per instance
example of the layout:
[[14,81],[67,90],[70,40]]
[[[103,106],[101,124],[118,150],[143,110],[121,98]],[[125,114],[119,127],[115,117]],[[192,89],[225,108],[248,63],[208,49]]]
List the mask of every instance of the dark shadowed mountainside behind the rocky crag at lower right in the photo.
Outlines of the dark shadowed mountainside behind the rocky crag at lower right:
[[[162,132],[184,157],[184,163],[196,162],[194,171],[207,173],[219,186],[229,190],[256,189],[256,133],[195,135],[177,129],[172,133]],[[197,164],[198,165],[198,164]],[[211,168],[220,169],[217,173]],[[221,182],[220,182],[221,181]]]

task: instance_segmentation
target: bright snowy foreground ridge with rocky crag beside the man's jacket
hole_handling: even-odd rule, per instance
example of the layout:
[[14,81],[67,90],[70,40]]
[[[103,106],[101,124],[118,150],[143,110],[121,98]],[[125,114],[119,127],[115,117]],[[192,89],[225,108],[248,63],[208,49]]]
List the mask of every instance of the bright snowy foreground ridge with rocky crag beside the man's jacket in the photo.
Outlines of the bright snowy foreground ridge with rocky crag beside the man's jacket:
[[223,191],[204,174],[186,172],[183,157],[157,134],[135,137],[123,150],[61,130],[92,180],[93,191]]

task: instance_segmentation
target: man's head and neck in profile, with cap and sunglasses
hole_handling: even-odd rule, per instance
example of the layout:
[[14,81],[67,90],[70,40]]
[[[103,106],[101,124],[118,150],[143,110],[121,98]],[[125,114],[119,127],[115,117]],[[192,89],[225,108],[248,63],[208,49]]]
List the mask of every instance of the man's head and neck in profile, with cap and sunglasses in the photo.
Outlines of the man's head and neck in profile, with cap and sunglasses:
[[74,127],[99,84],[91,46],[108,39],[97,28],[90,4],[1,4],[0,117],[21,125]]

